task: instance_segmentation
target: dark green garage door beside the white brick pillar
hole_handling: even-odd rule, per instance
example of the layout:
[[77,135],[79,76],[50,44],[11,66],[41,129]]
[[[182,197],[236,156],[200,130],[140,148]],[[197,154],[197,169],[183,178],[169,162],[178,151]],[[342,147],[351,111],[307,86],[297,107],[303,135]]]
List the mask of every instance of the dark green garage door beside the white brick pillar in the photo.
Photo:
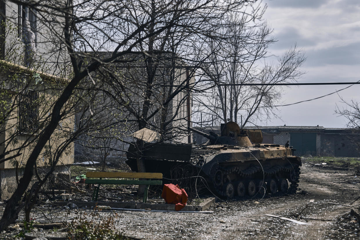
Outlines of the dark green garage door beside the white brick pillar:
[[291,132],[290,144],[296,149],[295,155],[316,155],[316,133],[315,132]]

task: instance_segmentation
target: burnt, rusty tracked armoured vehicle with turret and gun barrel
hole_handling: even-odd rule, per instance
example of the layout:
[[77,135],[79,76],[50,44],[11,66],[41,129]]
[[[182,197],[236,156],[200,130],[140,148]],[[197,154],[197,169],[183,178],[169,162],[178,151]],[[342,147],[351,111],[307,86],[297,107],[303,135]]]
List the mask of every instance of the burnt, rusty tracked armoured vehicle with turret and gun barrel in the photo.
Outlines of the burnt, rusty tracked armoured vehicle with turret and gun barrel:
[[[261,130],[239,128],[235,122],[221,124],[220,136],[189,129],[206,137],[206,144],[148,144],[143,151],[147,171],[166,177],[175,164],[190,163],[213,191],[227,198],[296,192],[301,159],[292,147],[261,144]],[[127,164],[137,171],[135,149],[131,148]]]

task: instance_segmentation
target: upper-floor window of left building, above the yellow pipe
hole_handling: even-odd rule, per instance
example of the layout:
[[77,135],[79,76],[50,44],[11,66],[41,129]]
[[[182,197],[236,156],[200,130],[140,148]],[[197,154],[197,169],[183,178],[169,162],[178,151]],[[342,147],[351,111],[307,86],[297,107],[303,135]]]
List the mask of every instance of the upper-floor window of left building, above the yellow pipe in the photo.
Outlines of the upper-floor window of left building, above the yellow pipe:
[[37,18],[36,18],[36,10],[31,9],[26,5],[18,4],[18,34],[20,39],[23,38],[24,30],[24,21],[28,19],[30,22],[31,31],[35,34],[35,43],[37,39]]

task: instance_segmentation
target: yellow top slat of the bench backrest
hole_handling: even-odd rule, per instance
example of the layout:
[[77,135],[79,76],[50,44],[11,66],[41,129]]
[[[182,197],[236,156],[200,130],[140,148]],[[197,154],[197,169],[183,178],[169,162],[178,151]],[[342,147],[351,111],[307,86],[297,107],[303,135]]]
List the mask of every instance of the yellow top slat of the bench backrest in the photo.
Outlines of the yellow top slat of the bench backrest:
[[158,172],[86,172],[86,177],[161,179],[162,173],[158,173]]

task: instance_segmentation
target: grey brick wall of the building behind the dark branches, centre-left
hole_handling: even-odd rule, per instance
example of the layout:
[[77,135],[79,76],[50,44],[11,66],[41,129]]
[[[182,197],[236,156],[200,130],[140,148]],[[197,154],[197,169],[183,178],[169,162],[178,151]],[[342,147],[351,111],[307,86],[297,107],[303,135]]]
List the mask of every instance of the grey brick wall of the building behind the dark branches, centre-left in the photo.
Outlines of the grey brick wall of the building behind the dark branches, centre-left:
[[[135,54],[134,54],[135,55]],[[131,55],[130,55],[131,56]],[[135,55],[136,57],[136,55]],[[136,63],[136,61],[134,61]],[[141,63],[141,61],[139,60],[139,62]],[[134,63],[134,64],[135,64]],[[135,64],[136,65],[136,64]],[[135,109],[136,112],[141,112],[142,111],[142,104],[143,104],[143,99],[142,97],[144,96],[143,91],[144,89],[138,85],[134,85],[134,78],[137,78],[138,81],[136,81],[136,83],[139,82],[144,82],[146,79],[144,79],[144,75],[146,73],[141,72],[144,71],[144,69],[142,69],[141,67],[134,67],[132,66],[132,68],[127,69],[125,72],[124,68],[120,66],[120,67],[114,67],[114,71],[123,71],[122,73],[124,74],[124,76],[127,76],[126,74],[131,73],[131,77],[125,78],[124,81],[129,81],[129,84],[126,84],[127,88],[129,90],[131,90],[132,92],[136,92],[137,94],[132,93],[132,98],[131,103],[132,103],[132,108]],[[159,72],[161,73],[163,69],[161,67],[159,67]],[[125,73],[124,73],[125,72]],[[166,81],[166,77],[167,76],[162,76],[160,73],[158,73],[157,75],[160,76],[159,79],[161,81]],[[178,68],[175,69],[175,80],[174,80],[174,90],[176,91],[176,86],[180,85],[180,86],[184,86],[184,82],[186,81],[186,69],[181,68],[181,66],[179,66]],[[190,84],[192,82],[194,82],[195,79],[191,78],[190,79]],[[132,85],[134,85],[132,87]],[[141,84],[139,84],[141,85]],[[162,90],[162,89],[161,89]],[[157,90],[154,91],[159,91],[159,88],[157,87]],[[171,125],[169,126],[169,129],[173,129],[172,131],[169,130],[170,132],[170,137],[172,138],[171,141],[174,142],[178,142],[178,143],[187,143],[188,142],[188,135],[187,135],[187,120],[186,117],[188,116],[187,113],[187,108],[186,108],[186,94],[187,94],[187,90],[182,90],[179,92],[179,94],[177,94],[174,99],[172,99],[172,101],[170,102],[169,106],[168,106],[168,116],[166,121],[169,121],[174,115],[174,120],[171,123]],[[156,94],[153,94],[154,96]],[[154,98],[152,100],[152,104],[155,106],[154,109],[156,110],[157,108],[161,108],[161,104],[162,104],[162,94],[161,92],[159,92],[159,98]],[[130,98],[130,97],[129,97]],[[116,111],[118,113],[118,118],[114,119],[113,122],[115,122],[116,120],[118,121],[122,121],[124,119],[127,120],[136,120],[134,118],[134,116],[132,115],[133,113],[129,113],[126,110],[119,108],[118,105],[116,103],[113,102],[112,99],[107,99],[105,100],[103,103],[103,105],[110,105],[111,108],[107,108],[107,109],[113,109],[116,108]],[[190,100],[190,104],[191,104],[191,100]],[[101,105],[101,104],[98,104]],[[152,107],[150,106],[150,110],[149,110],[149,114],[151,114],[151,112],[154,110],[152,109]],[[83,113],[81,113],[83,114]],[[79,115],[81,114],[77,114],[77,120],[80,118]],[[86,114],[89,113],[85,113]],[[104,115],[106,115],[106,112],[104,111],[103,113]],[[190,108],[190,115],[191,115],[191,108]],[[107,121],[106,118],[104,118],[104,121]],[[158,112],[157,114],[154,115],[153,119],[150,120],[150,124],[153,124],[154,126],[159,127],[160,126],[160,112]],[[111,122],[111,121],[110,121]],[[103,124],[103,123],[102,123]],[[75,124],[77,125],[77,123]],[[131,134],[134,133],[135,131],[138,130],[138,122],[136,121],[132,121],[132,122],[127,122],[127,123],[122,123],[122,124],[118,124],[116,126],[112,126],[112,128],[109,130],[109,132],[112,132],[112,135],[107,135],[107,141],[102,142],[101,140],[97,140],[96,137],[93,138],[89,135],[82,135],[80,136],[80,139],[75,141],[75,159],[76,161],[83,161],[83,160],[93,160],[93,161],[97,161],[97,162],[102,162],[105,159],[104,156],[104,150],[105,151],[109,151],[109,155],[107,155],[105,162],[116,162],[118,160],[123,161],[126,159],[126,151],[129,148],[129,144],[126,144],[123,141],[126,142],[134,142],[136,141],[134,138],[131,137]],[[156,129],[157,130],[157,129]],[[95,135],[95,134],[92,134]],[[111,136],[114,136],[113,139],[111,139]],[[118,140],[116,139],[116,137],[119,137],[119,139],[123,140]],[[101,146],[106,146],[106,149],[100,149]],[[113,150],[109,150],[110,148],[112,148]]]

